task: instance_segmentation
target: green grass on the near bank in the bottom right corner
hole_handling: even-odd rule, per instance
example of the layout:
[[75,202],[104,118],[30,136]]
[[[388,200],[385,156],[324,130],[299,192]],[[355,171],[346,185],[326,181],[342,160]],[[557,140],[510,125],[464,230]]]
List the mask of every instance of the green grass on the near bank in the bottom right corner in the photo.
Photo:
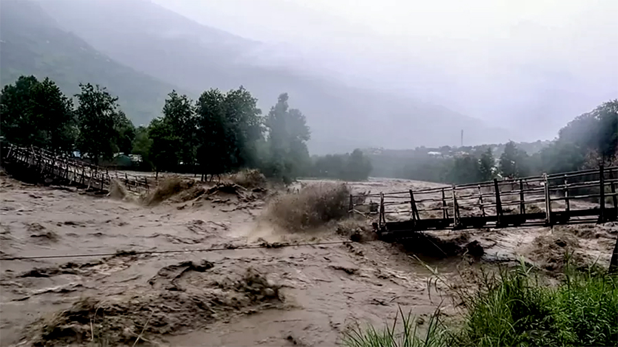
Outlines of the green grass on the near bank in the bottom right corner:
[[[497,276],[481,276],[453,325],[435,313],[419,326],[411,315],[392,326],[358,327],[343,344],[367,346],[618,346],[618,278],[598,270],[567,267],[549,286],[521,265]],[[436,311],[438,312],[438,311]],[[398,315],[399,316],[399,315]]]

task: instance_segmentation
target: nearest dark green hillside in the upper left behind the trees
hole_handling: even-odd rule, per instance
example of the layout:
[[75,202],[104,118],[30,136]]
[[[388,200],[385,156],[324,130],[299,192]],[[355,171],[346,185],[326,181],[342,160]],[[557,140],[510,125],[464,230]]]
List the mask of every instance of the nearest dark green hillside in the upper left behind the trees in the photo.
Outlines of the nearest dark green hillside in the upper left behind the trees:
[[[67,95],[80,83],[100,84],[136,124],[160,114],[172,84],[115,62],[78,36],[65,32],[32,1],[0,2],[0,84],[20,75],[54,80]],[[178,90],[178,88],[176,88]]]

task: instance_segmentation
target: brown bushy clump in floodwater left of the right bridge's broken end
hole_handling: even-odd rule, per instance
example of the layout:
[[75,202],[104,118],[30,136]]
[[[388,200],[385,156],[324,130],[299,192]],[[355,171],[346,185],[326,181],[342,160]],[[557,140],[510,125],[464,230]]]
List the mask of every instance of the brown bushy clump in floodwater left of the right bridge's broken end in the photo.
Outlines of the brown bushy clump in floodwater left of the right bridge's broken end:
[[316,228],[341,219],[350,208],[350,189],[345,184],[312,184],[298,193],[281,195],[268,206],[275,224],[290,231]]

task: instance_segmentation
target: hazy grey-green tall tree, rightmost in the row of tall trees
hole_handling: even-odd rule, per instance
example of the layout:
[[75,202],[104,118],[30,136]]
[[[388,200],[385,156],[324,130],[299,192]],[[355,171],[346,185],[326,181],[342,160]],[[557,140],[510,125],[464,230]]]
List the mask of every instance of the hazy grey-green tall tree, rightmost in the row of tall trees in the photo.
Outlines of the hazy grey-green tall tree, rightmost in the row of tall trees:
[[279,95],[277,104],[268,112],[265,121],[268,128],[270,158],[266,172],[271,176],[290,182],[310,163],[306,141],[310,139],[305,116],[288,106],[288,94]]

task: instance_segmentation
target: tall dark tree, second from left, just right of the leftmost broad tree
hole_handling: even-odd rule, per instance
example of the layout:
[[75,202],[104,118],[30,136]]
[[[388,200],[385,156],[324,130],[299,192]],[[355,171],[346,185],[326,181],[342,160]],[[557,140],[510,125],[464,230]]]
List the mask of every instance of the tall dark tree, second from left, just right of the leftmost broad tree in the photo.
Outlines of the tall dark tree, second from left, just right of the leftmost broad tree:
[[117,97],[98,85],[80,84],[82,92],[76,95],[79,106],[78,149],[98,165],[100,159],[111,159],[117,147],[119,110]]

